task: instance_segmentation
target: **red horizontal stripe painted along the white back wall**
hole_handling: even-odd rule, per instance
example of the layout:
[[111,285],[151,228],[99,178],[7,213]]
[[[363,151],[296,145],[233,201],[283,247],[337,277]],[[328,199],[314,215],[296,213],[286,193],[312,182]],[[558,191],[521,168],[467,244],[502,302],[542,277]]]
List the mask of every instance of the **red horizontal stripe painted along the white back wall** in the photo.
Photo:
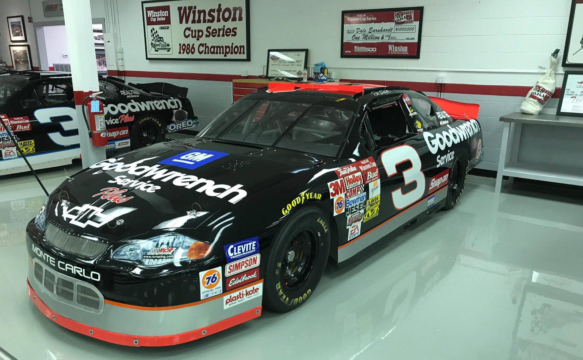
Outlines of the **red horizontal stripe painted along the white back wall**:
[[[581,0],[583,1],[583,0]],[[132,76],[132,77],[150,77],[156,79],[186,79],[186,80],[206,80],[206,81],[227,81],[235,79],[261,79],[262,76],[229,75],[229,74],[202,74],[202,73],[170,73],[170,72],[146,72],[136,70],[107,70],[110,76]],[[408,87],[412,90],[426,92],[440,92],[440,84],[424,83],[422,81],[384,81],[384,80],[357,80],[357,79],[340,79],[350,83],[360,84],[378,84],[383,86],[401,86]],[[261,87],[265,85],[262,84]],[[237,87],[243,87],[238,83]],[[245,85],[247,87],[247,85]],[[252,87],[248,85],[248,87]],[[496,95],[496,96],[515,96],[525,97],[530,86],[512,86],[512,85],[477,85],[477,84],[443,84],[441,92],[448,94],[475,94],[475,95]],[[553,98],[559,98],[561,88],[557,88]]]

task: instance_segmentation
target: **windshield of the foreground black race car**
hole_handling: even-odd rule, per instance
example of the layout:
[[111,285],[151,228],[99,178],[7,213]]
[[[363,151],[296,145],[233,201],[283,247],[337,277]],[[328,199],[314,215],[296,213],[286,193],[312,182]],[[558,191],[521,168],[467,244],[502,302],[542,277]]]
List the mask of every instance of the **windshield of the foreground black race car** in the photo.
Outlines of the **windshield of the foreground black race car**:
[[335,100],[309,104],[241,99],[210,122],[199,137],[336,156],[357,105]]

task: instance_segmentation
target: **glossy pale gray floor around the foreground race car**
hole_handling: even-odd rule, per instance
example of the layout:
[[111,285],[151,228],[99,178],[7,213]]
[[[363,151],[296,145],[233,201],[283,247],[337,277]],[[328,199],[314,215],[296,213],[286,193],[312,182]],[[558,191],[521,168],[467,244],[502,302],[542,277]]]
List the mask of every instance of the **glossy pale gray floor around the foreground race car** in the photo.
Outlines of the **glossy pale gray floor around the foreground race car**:
[[[64,172],[41,177],[52,189]],[[493,179],[469,176],[455,209],[349,268],[328,266],[296,311],[127,348],[63,329],[32,304],[23,229],[44,196],[30,176],[0,179],[0,347],[21,360],[583,359],[581,193],[493,191]]]

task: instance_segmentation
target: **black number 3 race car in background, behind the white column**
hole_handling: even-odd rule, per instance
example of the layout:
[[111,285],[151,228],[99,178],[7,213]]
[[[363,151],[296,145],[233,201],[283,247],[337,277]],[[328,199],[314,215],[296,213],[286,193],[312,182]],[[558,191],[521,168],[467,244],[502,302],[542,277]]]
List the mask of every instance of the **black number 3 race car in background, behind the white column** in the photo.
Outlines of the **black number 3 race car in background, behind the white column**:
[[[99,77],[99,90],[103,91],[108,153],[144,147],[164,140],[167,132],[198,126],[187,88]],[[10,128],[0,129],[0,174],[28,169],[8,131],[36,169],[79,158],[71,74],[12,71],[0,75],[0,117]]]

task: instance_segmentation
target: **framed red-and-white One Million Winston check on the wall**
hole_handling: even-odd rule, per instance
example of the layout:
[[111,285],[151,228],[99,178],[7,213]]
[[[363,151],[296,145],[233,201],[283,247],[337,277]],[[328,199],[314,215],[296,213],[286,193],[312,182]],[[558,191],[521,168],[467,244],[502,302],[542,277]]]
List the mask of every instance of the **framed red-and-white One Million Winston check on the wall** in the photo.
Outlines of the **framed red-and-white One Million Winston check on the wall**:
[[419,59],[423,6],[345,10],[341,58]]

